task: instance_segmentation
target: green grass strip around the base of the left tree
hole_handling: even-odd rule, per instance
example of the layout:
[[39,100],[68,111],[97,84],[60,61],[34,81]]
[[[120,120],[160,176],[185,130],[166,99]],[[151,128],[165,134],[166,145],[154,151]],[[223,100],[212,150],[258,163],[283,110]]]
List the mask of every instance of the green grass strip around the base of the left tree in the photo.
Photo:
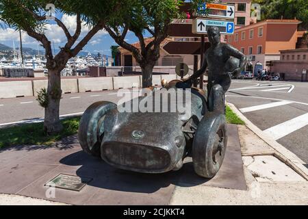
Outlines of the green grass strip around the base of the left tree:
[[43,123],[34,123],[0,129],[0,149],[13,145],[51,145],[78,131],[80,117],[62,120],[63,131],[53,136],[44,133]]

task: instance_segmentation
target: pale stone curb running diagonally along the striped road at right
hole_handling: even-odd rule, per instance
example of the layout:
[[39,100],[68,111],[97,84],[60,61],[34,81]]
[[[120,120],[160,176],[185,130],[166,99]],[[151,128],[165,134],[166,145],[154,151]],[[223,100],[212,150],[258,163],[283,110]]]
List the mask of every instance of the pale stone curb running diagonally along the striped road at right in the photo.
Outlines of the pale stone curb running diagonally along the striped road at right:
[[261,131],[261,129],[251,123],[251,121],[248,120],[248,118],[246,118],[246,116],[244,116],[242,112],[240,112],[240,110],[235,107],[235,105],[233,105],[232,103],[227,103],[227,105],[229,105],[231,110],[233,110],[233,112],[237,114],[246,123],[246,127],[248,127],[248,129],[251,129],[251,131],[253,131],[253,133],[255,133],[257,136],[259,136],[261,140],[264,140],[264,142],[266,142],[270,147],[272,147],[272,149],[274,149],[275,157],[280,159],[287,166],[290,166],[290,168],[297,172],[298,175],[308,181],[308,168],[303,165],[305,164],[303,160],[301,160],[294,153],[286,149],[284,146],[279,144],[277,141],[272,139],[266,133]]

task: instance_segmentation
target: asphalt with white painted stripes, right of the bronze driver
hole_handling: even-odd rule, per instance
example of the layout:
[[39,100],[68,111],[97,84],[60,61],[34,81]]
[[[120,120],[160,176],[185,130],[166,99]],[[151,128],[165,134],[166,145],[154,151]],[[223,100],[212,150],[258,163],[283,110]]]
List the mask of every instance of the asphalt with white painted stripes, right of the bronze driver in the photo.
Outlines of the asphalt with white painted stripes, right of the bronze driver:
[[308,164],[308,83],[235,80],[227,101]]

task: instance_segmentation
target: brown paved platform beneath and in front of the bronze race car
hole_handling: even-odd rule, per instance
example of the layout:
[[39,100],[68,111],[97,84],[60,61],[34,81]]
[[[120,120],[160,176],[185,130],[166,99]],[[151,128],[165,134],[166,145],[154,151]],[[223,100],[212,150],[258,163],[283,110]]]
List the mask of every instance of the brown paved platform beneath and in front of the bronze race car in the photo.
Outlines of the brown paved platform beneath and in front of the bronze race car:
[[[81,151],[77,136],[57,146],[12,147],[0,151],[0,193],[43,198],[73,205],[168,205],[175,186],[182,188],[211,185],[246,190],[238,128],[229,125],[229,144],[224,164],[214,179],[194,173],[192,159],[183,168],[159,175],[118,170],[101,159]],[[60,173],[90,177],[80,192],[55,189],[55,198],[47,198],[44,186]]]

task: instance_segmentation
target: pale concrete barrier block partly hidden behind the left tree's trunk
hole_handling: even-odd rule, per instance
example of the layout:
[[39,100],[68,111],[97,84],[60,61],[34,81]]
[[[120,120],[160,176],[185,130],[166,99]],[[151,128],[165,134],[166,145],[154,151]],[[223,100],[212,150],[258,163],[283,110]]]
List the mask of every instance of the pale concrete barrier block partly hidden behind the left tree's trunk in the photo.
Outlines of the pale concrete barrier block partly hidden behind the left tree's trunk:
[[[34,96],[37,96],[38,94],[37,92],[41,88],[47,88],[47,86],[48,86],[47,80],[33,81]],[[62,94],[77,93],[78,92],[77,79],[61,79],[61,89],[62,89]]]

